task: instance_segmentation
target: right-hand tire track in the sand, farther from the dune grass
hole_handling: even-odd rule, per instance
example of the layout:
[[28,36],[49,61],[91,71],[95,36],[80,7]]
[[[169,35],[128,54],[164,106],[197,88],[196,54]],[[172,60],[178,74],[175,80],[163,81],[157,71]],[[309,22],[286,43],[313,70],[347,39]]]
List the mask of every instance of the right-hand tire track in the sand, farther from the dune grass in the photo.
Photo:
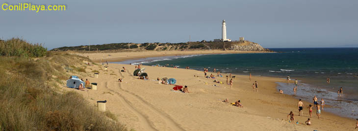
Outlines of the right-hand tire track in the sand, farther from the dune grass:
[[[126,71],[129,75],[130,73],[128,71]],[[124,78],[122,72],[120,72],[120,75]],[[134,76],[133,76],[134,77]],[[135,79],[135,77],[133,78]],[[128,90],[124,90],[122,88],[122,84],[119,83],[119,89],[122,92],[127,92],[129,95],[133,96],[134,98],[137,99],[137,101],[139,101],[141,103],[141,105],[146,106],[147,109],[150,109],[151,111],[153,111],[155,114],[157,114],[157,116],[161,117],[162,120],[165,121],[166,125],[171,128],[173,131],[185,131],[183,128],[181,128],[179,126],[179,124],[177,122],[175,122],[168,114],[164,113],[162,110],[155,108],[155,106],[153,106],[152,104],[148,103],[147,101],[145,101],[142,97],[138,96],[137,94],[130,92]],[[117,91],[114,91],[116,93],[119,93]]]

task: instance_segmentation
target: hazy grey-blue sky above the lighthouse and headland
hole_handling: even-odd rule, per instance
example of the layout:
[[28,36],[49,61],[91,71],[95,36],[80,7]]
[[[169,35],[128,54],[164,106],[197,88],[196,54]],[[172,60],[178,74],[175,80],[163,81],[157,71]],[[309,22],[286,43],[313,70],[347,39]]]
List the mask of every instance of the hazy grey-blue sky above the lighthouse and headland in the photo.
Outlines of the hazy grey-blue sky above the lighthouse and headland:
[[3,11],[0,39],[48,49],[109,43],[181,43],[227,37],[277,47],[358,47],[358,0],[0,0],[64,4],[66,11]]

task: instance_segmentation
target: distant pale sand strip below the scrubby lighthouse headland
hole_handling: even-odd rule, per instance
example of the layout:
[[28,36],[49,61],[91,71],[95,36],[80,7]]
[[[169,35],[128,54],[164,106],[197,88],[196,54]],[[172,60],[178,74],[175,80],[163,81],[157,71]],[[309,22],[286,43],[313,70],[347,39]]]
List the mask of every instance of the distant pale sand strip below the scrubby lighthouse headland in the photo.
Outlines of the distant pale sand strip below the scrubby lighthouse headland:
[[141,59],[148,57],[161,56],[179,56],[179,55],[199,55],[199,54],[239,54],[239,53],[269,53],[267,51],[237,51],[237,50],[193,50],[193,51],[141,51],[141,52],[96,52],[77,53],[69,51],[69,53],[77,54],[90,58],[93,62],[120,62],[125,60]]

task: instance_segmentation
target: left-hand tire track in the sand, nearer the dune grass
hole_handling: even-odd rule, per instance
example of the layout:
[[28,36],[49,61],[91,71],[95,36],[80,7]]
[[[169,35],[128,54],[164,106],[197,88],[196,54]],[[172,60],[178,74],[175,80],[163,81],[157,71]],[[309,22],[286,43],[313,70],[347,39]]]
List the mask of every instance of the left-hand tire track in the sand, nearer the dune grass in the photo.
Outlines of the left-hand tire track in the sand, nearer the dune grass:
[[121,103],[126,106],[128,109],[132,110],[133,113],[138,117],[142,127],[146,130],[146,131],[158,131],[154,128],[153,123],[150,122],[150,120],[142,113],[140,113],[138,111],[138,109],[136,109],[135,107],[133,107],[131,104],[129,104],[129,101],[120,93],[118,93],[117,91],[114,91],[112,89],[108,88],[108,82],[105,83],[105,88],[115,92],[121,99]]

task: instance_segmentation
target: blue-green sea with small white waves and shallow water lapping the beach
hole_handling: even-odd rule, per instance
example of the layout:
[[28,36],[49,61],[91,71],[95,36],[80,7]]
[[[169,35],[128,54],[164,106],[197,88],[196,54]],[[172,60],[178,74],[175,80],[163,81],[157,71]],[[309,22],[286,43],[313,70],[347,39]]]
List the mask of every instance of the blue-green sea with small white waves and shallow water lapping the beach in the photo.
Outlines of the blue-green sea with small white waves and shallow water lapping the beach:
[[[277,83],[277,90],[297,99],[312,101],[314,95],[323,98],[328,111],[339,116],[358,118],[358,48],[269,48],[276,53],[208,54],[152,57],[114,62],[146,66],[177,66],[190,69],[240,75],[298,79],[297,94],[293,84]],[[330,78],[330,84],[326,80]],[[343,96],[337,90],[343,88]],[[313,105],[313,104],[312,104]]]

